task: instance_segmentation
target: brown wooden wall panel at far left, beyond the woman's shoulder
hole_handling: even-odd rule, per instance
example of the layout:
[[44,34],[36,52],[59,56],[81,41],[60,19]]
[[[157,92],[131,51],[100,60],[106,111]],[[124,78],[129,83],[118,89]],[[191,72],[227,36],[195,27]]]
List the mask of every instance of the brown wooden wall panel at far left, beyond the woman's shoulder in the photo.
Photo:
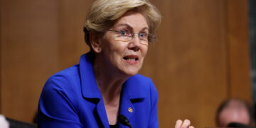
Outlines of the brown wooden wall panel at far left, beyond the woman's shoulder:
[[1,114],[31,122],[44,82],[58,71],[58,3],[2,4]]

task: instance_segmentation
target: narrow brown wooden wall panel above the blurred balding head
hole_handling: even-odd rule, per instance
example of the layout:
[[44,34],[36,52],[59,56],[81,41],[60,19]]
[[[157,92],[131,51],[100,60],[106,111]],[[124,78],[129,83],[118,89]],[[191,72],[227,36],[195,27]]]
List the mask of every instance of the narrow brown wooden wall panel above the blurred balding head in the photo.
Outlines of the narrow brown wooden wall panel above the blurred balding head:
[[[227,36],[230,68],[230,96],[251,101],[250,91],[250,42],[248,29],[248,4],[241,0],[228,0]],[[241,8],[242,7],[242,8]]]

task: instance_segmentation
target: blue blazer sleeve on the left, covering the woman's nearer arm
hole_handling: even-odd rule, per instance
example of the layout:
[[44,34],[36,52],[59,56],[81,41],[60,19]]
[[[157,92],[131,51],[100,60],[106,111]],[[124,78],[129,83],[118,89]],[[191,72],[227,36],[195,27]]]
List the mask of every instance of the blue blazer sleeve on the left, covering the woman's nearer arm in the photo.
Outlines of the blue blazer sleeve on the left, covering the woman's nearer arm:
[[65,76],[53,76],[43,87],[38,105],[38,127],[81,128],[75,94],[70,81]]

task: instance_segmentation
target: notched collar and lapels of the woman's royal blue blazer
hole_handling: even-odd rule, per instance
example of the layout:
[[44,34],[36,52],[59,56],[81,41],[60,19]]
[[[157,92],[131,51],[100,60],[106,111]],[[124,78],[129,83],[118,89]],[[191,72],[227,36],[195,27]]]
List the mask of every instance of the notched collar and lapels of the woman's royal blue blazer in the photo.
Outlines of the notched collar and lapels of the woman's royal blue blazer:
[[[80,57],[80,79],[81,79],[81,88],[82,96],[85,98],[97,98],[102,99],[99,88],[97,87],[97,82],[95,80],[95,74],[93,71],[93,60],[94,53],[89,52]],[[130,100],[144,98],[146,96],[145,91],[143,90],[143,84],[139,80],[140,75],[134,75],[126,82],[122,87],[122,90],[126,92],[127,97]]]

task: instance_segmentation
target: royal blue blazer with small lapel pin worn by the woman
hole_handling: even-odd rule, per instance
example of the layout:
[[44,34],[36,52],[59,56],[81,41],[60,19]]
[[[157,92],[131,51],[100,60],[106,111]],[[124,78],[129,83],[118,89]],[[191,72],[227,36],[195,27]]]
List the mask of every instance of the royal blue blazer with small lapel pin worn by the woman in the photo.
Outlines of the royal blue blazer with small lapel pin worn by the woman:
[[[95,80],[91,52],[80,63],[51,76],[43,87],[38,105],[38,127],[110,127],[102,95]],[[153,82],[134,75],[122,86],[119,114],[134,128],[159,127],[158,93]],[[118,123],[118,127],[126,126]]]

